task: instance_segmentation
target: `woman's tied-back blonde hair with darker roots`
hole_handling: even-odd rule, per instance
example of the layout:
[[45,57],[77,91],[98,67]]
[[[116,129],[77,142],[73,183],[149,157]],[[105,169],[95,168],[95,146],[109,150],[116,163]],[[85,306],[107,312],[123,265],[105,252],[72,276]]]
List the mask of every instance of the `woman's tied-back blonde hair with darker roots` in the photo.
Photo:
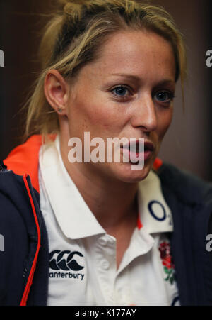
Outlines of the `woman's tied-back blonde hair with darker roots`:
[[64,79],[100,54],[107,36],[122,30],[153,31],[170,42],[176,62],[176,81],[186,77],[186,55],[182,35],[165,9],[134,0],[59,0],[40,43],[42,73],[27,108],[25,138],[59,132],[59,121],[44,92],[47,72],[56,69]]

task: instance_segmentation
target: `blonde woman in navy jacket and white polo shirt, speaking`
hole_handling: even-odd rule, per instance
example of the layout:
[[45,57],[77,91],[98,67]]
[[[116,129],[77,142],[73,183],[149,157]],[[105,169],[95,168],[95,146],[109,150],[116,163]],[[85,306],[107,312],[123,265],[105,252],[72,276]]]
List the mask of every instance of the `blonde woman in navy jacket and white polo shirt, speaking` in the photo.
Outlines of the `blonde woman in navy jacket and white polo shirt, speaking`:
[[[30,138],[1,165],[1,304],[211,304],[211,184],[156,158],[186,73],[182,36],[157,6],[60,3]],[[120,161],[105,160],[108,138]]]

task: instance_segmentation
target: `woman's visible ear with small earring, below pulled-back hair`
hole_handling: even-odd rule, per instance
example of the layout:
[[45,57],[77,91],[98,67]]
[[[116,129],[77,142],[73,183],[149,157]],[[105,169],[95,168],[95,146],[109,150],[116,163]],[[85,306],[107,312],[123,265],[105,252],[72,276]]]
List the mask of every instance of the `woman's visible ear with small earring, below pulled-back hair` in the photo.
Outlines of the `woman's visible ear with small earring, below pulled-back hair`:
[[64,77],[55,70],[49,70],[45,77],[45,96],[50,106],[61,116],[66,115],[66,102],[69,97],[69,84]]

